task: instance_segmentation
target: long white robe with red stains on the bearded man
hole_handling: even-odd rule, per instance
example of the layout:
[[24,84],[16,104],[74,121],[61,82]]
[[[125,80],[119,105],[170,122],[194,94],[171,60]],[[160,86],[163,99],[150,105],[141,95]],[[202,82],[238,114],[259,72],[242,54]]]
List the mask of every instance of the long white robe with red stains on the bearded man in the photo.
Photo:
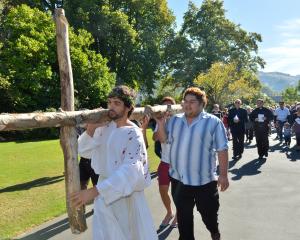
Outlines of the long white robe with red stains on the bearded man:
[[151,177],[141,130],[117,128],[115,122],[97,128],[94,136],[78,139],[82,157],[92,159],[100,175],[94,201],[94,240],[157,240],[144,196]]

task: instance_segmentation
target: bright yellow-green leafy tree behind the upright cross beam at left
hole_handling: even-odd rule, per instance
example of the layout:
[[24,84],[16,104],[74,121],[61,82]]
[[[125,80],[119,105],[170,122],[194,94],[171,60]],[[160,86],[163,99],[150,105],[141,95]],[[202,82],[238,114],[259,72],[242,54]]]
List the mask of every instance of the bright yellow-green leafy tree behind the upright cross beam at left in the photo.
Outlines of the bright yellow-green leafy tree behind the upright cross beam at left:
[[[7,105],[0,111],[28,112],[60,106],[55,26],[51,14],[26,5],[13,7],[3,21],[0,91]],[[70,51],[77,107],[94,108],[115,83],[107,60],[90,50],[91,34],[70,29]]]

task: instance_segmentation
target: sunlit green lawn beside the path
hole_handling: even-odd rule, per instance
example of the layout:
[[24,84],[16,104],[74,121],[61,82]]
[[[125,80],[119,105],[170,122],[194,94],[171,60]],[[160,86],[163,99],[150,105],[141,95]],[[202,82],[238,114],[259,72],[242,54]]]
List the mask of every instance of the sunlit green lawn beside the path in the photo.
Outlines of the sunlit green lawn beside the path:
[[[154,154],[147,131],[150,170]],[[66,212],[59,140],[0,143],[0,239],[12,238]]]

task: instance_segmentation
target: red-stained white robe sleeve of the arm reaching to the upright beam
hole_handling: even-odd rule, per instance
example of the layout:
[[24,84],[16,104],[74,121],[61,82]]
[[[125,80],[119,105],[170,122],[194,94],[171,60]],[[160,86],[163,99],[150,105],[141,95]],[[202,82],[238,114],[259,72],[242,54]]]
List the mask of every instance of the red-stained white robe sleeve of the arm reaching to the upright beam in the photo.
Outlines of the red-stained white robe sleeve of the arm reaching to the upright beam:
[[132,131],[124,147],[121,165],[96,186],[106,204],[129,196],[134,191],[142,191],[150,185],[151,177],[142,132],[139,129]]

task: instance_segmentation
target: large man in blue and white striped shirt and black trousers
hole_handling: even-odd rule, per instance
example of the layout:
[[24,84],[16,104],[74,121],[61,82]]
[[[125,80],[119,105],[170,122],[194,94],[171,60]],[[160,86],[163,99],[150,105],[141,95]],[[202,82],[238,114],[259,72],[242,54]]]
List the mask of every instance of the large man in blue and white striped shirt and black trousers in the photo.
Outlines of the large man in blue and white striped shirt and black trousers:
[[[222,121],[204,111],[207,99],[199,88],[183,95],[183,111],[166,125],[158,119],[160,140],[170,162],[172,197],[177,208],[179,240],[193,240],[196,205],[213,240],[219,240],[219,194],[228,186],[228,140]],[[219,177],[216,175],[216,155]]]

